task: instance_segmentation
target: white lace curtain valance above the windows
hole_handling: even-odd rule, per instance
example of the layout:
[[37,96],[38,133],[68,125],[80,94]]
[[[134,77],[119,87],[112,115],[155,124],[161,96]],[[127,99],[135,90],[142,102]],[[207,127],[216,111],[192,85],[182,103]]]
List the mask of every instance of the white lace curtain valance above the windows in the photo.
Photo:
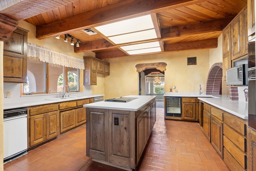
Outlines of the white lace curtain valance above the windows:
[[40,47],[35,44],[28,44],[27,55],[28,57],[38,57],[42,62],[84,70],[84,60]]

